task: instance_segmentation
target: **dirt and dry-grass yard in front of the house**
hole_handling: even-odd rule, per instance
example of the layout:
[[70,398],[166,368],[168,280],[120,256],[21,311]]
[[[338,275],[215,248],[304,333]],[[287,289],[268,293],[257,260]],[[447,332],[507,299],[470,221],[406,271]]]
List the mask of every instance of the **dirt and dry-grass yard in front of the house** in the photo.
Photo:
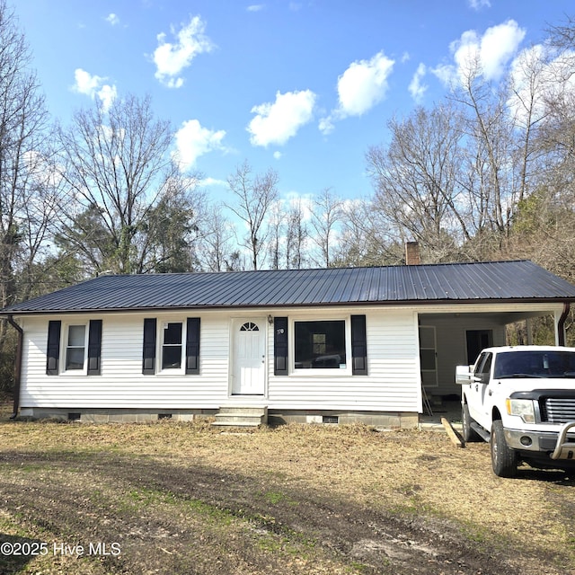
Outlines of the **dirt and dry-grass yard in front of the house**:
[[575,482],[447,434],[0,421],[0,573],[567,575]]

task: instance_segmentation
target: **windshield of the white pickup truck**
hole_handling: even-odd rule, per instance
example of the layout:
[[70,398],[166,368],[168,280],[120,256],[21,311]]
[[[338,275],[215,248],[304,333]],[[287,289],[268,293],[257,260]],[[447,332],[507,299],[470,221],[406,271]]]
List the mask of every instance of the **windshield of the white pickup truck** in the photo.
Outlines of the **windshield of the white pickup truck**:
[[505,351],[493,377],[575,377],[575,351]]

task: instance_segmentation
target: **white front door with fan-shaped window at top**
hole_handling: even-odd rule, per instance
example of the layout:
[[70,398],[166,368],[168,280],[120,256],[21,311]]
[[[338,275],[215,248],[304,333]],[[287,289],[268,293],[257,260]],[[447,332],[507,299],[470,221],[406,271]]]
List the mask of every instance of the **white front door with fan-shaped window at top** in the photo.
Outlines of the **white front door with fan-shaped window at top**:
[[263,395],[266,367],[266,320],[234,320],[232,394]]

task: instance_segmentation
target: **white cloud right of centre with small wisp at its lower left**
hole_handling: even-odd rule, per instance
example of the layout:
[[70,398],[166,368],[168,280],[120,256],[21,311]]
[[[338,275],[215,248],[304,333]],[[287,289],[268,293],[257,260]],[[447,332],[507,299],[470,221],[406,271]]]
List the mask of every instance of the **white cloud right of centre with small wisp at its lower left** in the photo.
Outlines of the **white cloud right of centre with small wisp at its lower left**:
[[334,120],[361,116],[381,102],[394,64],[395,61],[383,52],[378,52],[370,60],[352,62],[338,78],[338,108],[320,120],[320,130],[328,134],[333,129]]

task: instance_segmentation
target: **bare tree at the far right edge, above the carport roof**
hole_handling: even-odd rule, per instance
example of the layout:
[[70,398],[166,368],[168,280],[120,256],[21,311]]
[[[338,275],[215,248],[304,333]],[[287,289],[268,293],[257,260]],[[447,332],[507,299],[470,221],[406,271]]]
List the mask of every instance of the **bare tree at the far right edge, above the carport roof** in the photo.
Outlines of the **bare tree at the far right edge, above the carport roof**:
[[[563,278],[575,278],[575,23],[551,29],[544,49],[523,65],[533,78],[536,129],[527,173],[529,193],[517,203],[511,248]],[[526,90],[524,90],[526,92]]]

